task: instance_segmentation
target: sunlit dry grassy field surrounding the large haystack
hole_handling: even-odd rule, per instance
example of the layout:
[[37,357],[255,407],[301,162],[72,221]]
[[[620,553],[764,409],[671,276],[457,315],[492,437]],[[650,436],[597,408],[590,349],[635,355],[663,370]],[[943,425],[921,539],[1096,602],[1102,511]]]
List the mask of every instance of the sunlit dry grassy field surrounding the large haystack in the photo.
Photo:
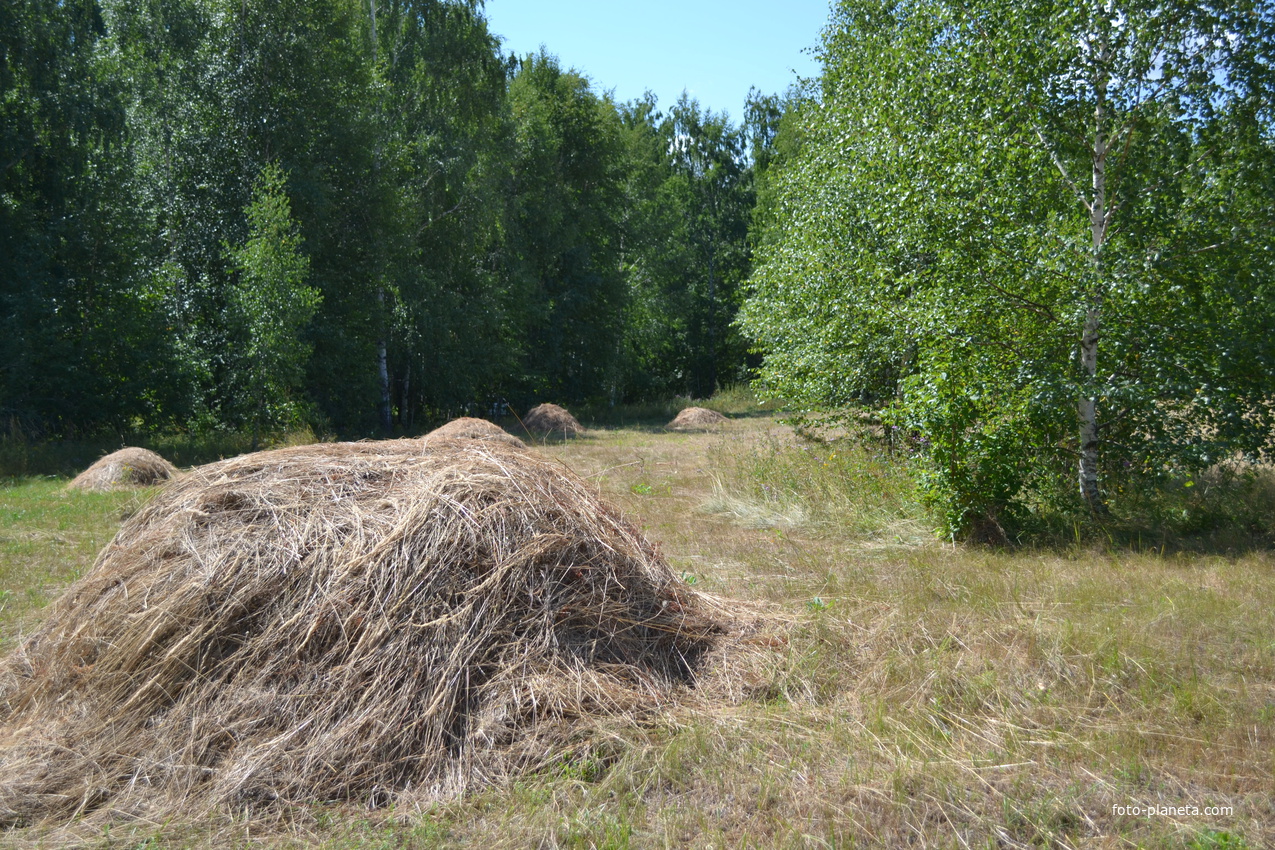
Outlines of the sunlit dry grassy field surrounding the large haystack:
[[[697,589],[762,607],[741,697],[419,812],[119,825],[99,847],[1275,846],[1275,557],[936,540],[889,457],[725,404],[542,447]],[[142,496],[0,487],[11,649]],[[1150,809],[1150,812],[1148,812]],[[0,833],[60,846],[65,833]]]

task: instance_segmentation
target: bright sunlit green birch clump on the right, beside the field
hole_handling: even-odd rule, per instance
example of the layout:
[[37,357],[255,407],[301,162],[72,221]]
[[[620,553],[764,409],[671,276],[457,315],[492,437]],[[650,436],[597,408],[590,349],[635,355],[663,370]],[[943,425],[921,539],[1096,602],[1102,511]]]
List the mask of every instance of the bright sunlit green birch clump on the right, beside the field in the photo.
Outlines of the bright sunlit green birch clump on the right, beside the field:
[[761,386],[881,409],[945,535],[1075,511],[1077,470],[1119,515],[1154,470],[1269,451],[1265,25],[838,4],[768,175],[741,313]]

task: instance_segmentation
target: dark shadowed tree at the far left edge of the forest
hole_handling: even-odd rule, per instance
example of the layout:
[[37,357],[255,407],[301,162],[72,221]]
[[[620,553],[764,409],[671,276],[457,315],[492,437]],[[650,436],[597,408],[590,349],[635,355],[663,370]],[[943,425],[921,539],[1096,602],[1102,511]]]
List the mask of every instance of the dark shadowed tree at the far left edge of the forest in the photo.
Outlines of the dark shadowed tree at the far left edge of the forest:
[[0,10],[0,417],[28,433],[157,414],[163,358],[148,352],[162,326],[134,265],[139,214],[105,38],[92,0]]

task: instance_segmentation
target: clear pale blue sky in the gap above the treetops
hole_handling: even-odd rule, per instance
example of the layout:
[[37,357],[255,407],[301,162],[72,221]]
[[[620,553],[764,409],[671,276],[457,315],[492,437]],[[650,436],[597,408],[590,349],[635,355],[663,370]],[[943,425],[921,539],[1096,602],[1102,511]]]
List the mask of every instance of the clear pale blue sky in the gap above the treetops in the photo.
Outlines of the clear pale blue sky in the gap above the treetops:
[[617,101],[650,89],[667,110],[686,89],[737,124],[750,87],[778,94],[819,73],[803,51],[819,42],[827,9],[827,0],[486,0],[506,54],[543,45]]

